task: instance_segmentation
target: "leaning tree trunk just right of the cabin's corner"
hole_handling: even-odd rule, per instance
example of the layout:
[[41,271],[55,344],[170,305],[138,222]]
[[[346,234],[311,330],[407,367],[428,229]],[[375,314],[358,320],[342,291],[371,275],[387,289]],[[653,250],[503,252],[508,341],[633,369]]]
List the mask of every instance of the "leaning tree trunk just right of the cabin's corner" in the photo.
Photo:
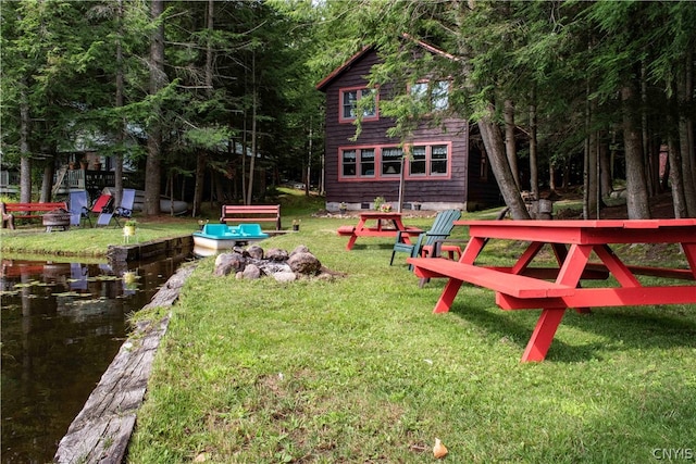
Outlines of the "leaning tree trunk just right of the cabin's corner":
[[494,108],[489,103],[487,114],[478,121],[478,129],[490,161],[490,168],[496,176],[505,203],[510,208],[512,218],[529,220],[530,213],[524,201],[522,201],[510,164],[508,164],[502,135],[498,126],[493,122],[493,114]]

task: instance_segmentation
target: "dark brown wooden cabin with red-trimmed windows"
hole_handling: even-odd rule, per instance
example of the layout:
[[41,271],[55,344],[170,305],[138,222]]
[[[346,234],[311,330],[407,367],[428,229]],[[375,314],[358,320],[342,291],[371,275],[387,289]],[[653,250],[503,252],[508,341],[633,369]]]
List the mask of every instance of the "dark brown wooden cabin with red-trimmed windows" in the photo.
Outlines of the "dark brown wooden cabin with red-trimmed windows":
[[[378,62],[374,47],[365,47],[316,85],[326,95],[326,209],[337,211],[341,203],[349,210],[372,209],[377,197],[396,209],[401,189],[403,209],[474,211],[502,204],[483,143],[472,137],[468,121],[444,118],[438,126],[423,121],[408,143],[387,136],[395,121],[380,114],[380,100],[396,89],[368,88],[366,76]],[[449,86],[448,80],[424,79],[409,91],[430,99],[438,111],[447,108]],[[373,103],[358,105],[364,98]],[[355,138],[358,111],[361,131]]]

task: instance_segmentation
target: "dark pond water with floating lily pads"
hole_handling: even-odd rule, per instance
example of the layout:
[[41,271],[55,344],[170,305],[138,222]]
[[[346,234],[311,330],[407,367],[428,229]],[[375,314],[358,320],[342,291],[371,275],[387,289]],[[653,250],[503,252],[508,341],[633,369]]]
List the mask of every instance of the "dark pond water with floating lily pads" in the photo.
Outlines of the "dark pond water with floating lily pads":
[[140,310],[188,254],[121,265],[2,258],[2,462],[52,462]]

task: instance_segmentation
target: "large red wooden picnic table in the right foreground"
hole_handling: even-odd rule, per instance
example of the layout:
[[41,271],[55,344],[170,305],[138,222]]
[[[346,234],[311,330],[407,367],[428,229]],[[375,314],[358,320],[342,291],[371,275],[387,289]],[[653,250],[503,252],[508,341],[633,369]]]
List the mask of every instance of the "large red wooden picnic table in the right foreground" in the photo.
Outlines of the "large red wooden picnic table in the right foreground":
[[[496,291],[504,310],[542,309],[522,362],[543,361],[567,309],[696,303],[696,220],[598,221],[457,221],[469,226],[470,240],[461,259],[409,258],[421,278],[447,277],[435,313],[450,309],[463,281]],[[474,262],[490,239],[530,242],[510,267]],[[611,243],[680,243],[684,268],[626,265]],[[539,250],[549,244],[558,267],[531,267]],[[600,262],[591,263],[591,253]],[[618,285],[610,286],[613,276]],[[672,285],[647,285],[636,276],[671,279]],[[547,279],[551,279],[550,281]],[[581,288],[583,279],[602,279],[599,287]]]

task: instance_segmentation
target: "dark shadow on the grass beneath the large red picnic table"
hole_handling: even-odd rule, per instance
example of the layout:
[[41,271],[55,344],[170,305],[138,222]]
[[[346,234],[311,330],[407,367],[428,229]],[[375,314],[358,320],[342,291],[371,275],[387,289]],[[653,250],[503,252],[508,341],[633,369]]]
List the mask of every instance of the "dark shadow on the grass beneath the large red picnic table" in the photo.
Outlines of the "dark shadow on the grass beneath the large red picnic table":
[[[540,310],[502,311],[495,305],[494,292],[488,297],[473,296],[475,288],[462,287],[451,305],[450,313],[457,314],[495,338],[520,347],[524,351],[540,314]],[[656,311],[664,311],[662,314]],[[526,313],[526,314],[521,314]],[[580,314],[568,310],[559,329],[563,326],[581,330],[591,337],[601,337],[606,341],[586,341],[577,336],[573,343],[572,334],[566,334],[568,341],[556,337],[546,360],[563,363],[586,362],[602,359],[602,353],[626,350],[670,349],[696,347],[696,322],[685,311],[645,308],[593,309],[591,314]]]

